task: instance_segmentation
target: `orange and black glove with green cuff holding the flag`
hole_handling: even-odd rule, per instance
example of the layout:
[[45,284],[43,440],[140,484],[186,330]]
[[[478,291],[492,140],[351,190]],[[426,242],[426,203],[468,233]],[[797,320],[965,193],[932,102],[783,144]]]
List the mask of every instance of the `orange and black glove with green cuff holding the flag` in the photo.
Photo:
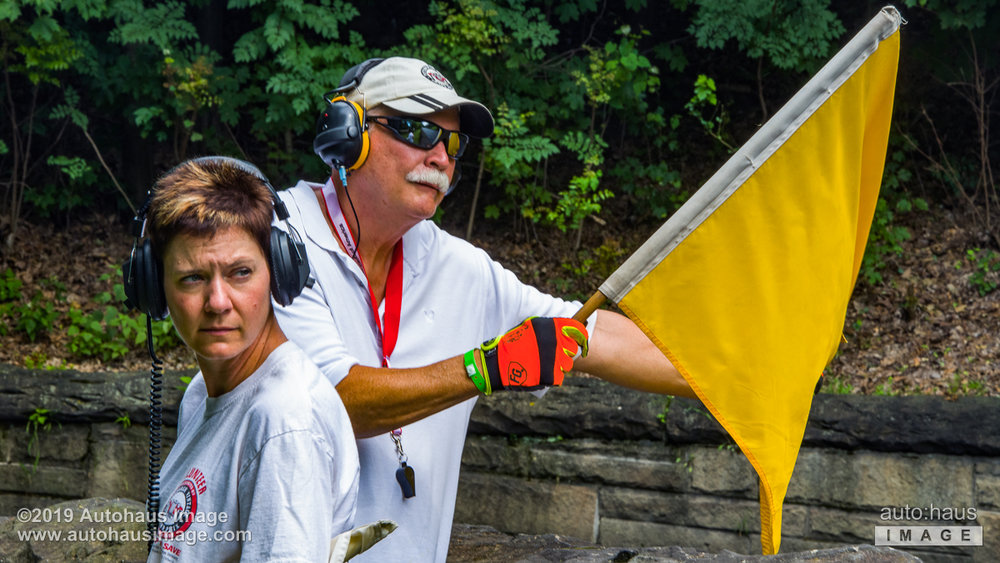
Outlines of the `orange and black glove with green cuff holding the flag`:
[[587,355],[587,329],[565,318],[531,317],[465,354],[465,370],[484,395],[562,385],[577,350]]

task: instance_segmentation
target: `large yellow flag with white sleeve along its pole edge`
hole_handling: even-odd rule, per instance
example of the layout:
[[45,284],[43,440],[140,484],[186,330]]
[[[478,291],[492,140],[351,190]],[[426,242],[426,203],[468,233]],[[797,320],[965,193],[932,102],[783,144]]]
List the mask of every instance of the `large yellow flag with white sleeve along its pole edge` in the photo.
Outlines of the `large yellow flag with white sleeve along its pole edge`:
[[757,471],[765,554],[878,199],[900,21],[884,8],[600,288]]

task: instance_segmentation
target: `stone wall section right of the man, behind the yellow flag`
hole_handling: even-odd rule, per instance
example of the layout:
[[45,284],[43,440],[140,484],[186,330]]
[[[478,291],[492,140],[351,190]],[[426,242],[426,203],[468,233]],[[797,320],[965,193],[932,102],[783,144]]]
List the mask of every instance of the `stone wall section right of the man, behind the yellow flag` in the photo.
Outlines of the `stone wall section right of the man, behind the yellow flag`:
[[[480,401],[456,521],[754,554],[757,491],[700,403],[572,378],[542,399]],[[969,509],[974,522],[943,518]],[[782,518],[782,552],[871,544],[875,526],[971,525],[983,527],[982,547],[901,549],[1000,560],[1000,399],[817,395]]]

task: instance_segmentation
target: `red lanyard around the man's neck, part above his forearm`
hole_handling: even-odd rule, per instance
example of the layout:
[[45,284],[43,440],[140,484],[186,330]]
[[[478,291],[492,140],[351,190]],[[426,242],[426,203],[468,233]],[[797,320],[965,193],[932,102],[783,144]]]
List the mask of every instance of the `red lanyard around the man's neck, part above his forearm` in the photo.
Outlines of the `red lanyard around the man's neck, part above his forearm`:
[[368,281],[368,271],[365,270],[361,255],[357,252],[354,236],[347,228],[347,221],[344,220],[344,213],[340,210],[340,203],[337,201],[336,190],[324,188],[323,202],[326,216],[334,226],[334,236],[343,245],[348,256],[351,256],[358,263],[362,273],[365,274],[365,281],[368,283],[368,301],[372,306],[372,317],[375,319],[375,328],[382,340],[382,367],[389,367],[389,357],[396,349],[396,339],[399,337],[399,318],[403,304],[403,241],[400,239],[392,249],[389,277],[385,282],[385,328],[383,329],[383,323],[378,314],[378,303],[375,302],[375,292],[372,291],[372,284]]

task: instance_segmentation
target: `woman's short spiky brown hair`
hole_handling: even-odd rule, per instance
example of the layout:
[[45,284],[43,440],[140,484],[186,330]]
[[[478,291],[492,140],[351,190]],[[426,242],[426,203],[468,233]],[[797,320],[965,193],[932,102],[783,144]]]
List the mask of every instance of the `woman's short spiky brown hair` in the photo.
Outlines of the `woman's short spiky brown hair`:
[[149,238],[157,260],[179,234],[211,237],[239,227],[264,256],[271,250],[274,200],[262,177],[228,158],[183,162],[157,180],[147,212]]

